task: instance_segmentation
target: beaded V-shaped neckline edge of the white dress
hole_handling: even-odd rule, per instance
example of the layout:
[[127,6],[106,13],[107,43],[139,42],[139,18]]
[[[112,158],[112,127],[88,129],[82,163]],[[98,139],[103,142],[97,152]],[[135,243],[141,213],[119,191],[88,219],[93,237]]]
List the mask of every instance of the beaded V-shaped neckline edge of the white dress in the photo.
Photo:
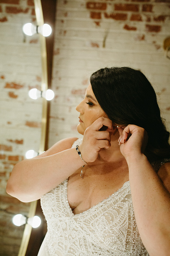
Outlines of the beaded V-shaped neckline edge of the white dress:
[[97,208],[97,207],[100,207],[100,206],[102,207],[106,201],[109,201],[112,197],[117,196],[117,195],[119,194],[119,192],[120,192],[121,190],[123,190],[124,188],[126,188],[126,187],[130,187],[129,181],[125,181],[124,184],[123,184],[117,191],[115,191],[113,194],[111,194],[111,195],[108,196],[107,198],[103,199],[103,200],[100,201],[99,203],[95,204],[94,206],[90,207],[89,209],[85,210],[85,211],[82,212],[82,213],[74,214],[74,213],[73,213],[73,210],[72,210],[72,208],[70,207],[70,204],[69,204],[69,202],[68,202],[68,198],[67,198],[67,189],[68,189],[68,178],[67,178],[67,179],[65,180],[65,190],[64,190],[64,192],[66,193],[66,194],[65,194],[66,205],[67,205],[67,207],[68,207],[68,210],[69,210],[70,214],[71,214],[73,217],[79,217],[79,216],[82,216],[82,215],[85,215],[85,214],[91,212],[92,210],[94,210],[94,209]]

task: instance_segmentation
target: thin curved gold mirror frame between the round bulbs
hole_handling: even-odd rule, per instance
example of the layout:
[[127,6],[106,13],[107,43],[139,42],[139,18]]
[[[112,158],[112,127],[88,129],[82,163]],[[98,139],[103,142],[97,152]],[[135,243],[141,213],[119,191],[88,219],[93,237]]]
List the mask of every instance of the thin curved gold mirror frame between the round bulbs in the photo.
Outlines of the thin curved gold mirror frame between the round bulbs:
[[[34,0],[34,6],[35,6],[35,15],[36,15],[37,25],[42,26],[44,24],[44,17],[42,12],[41,0]],[[41,91],[46,91],[48,89],[46,39],[41,34],[39,34],[39,37],[40,37],[41,66],[42,66]],[[45,98],[42,98],[41,139],[40,139],[40,146],[39,146],[39,154],[42,154],[45,150],[46,129],[47,129],[47,100]],[[34,217],[36,206],[37,206],[37,201],[30,203],[28,218]],[[25,225],[18,256],[26,255],[31,231],[32,231],[32,226],[30,226],[27,223]]]

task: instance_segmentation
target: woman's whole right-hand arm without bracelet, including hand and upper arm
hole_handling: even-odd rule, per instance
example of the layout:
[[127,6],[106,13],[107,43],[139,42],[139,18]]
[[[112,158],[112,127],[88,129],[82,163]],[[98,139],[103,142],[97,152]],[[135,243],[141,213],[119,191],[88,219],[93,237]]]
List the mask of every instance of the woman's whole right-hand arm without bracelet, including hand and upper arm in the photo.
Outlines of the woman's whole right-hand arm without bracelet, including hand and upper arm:
[[[127,139],[127,135],[131,137]],[[128,126],[123,131],[120,150],[129,167],[137,227],[149,255],[170,255],[170,163],[164,164],[159,176],[143,154],[147,142],[145,130]],[[122,141],[123,142],[123,141]],[[166,170],[166,175],[165,171]],[[164,173],[164,174],[163,174]]]

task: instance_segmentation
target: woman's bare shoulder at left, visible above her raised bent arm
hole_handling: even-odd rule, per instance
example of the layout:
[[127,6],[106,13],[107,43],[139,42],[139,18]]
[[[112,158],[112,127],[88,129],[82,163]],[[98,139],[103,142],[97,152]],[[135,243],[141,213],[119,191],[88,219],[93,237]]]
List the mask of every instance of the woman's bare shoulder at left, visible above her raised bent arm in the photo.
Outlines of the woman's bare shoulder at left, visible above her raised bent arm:
[[71,138],[66,138],[66,139],[59,140],[57,143],[55,143],[53,146],[51,146],[51,148],[46,150],[44,153],[42,153],[39,156],[36,156],[36,158],[41,158],[41,157],[44,157],[44,156],[57,154],[57,153],[59,153],[63,150],[69,149],[69,148],[72,147],[73,143],[77,139],[78,138],[76,138],[76,137],[71,137]]

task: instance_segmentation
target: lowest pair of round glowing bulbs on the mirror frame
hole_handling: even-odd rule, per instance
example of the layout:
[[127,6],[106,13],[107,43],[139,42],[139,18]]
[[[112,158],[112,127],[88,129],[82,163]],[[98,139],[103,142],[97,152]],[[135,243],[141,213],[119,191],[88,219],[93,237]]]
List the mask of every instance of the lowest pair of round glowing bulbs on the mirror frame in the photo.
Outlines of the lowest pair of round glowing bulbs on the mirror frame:
[[27,218],[26,216],[24,216],[22,214],[16,214],[12,218],[12,222],[16,226],[22,226],[22,225],[28,223],[33,228],[38,228],[41,224],[41,219],[38,216]]

